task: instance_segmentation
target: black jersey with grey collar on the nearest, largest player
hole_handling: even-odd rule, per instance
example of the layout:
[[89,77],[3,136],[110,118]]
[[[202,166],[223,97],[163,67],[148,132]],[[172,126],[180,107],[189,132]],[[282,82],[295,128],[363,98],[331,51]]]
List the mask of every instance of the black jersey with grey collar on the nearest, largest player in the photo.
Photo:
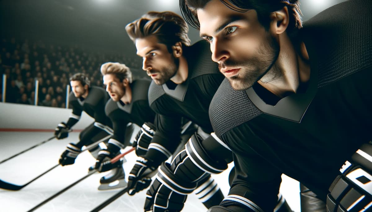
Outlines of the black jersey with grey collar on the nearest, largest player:
[[346,1],[304,23],[310,57],[307,89],[264,102],[257,85],[235,91],[225,79],[209,108],[216,135],[234,152],[230,194],[272,211],[281,174],[325,201],[339,169],[372,140],[372,5]]

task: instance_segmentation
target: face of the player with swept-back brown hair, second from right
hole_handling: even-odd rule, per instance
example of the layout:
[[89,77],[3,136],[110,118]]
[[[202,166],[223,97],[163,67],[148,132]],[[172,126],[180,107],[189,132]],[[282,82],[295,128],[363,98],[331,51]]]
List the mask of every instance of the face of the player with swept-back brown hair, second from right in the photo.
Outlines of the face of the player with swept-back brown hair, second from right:
[[135,42],[137,55],[142,57],[142,69],[154,80],[157,85],[163,85],[176,74],[178,63],[167,46],[158,43],[155,36],[139,38]]

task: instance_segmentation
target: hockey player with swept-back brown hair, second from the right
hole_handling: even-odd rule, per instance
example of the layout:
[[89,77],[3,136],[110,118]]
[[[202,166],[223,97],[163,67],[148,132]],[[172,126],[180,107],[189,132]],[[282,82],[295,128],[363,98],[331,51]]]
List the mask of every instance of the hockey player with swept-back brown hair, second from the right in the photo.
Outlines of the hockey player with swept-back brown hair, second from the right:
[[[185,21],[172,12],[148,12],[140,19],[129,23],[126,32],[135,43],[138,56],[143,58],[143,69],[153,79],[149,88],[149,103],[160,121],[151,140],[151,147],[129,175],[129,194],[140,191],[137,180],[147,169],[157,168],[171,156],[179,141],[181,117],[195,122],[202,130],[197,136],[212,139],[212,126],[208,117],[209,103],[220,85],[223,75],[210,57],[208,44],[197,42],[190,46]],[[231,152],[226,145],[215,142],[222,149],[221,155],[231,162]],[[178,160],[176,155],[173,160]],[[225,162],[226,164],[226,162]],[[225,169],[227,166],[225,167]],[[179,170],[184,175],[195,176],[193,169]],[[198,172],[198,170],[196,169]],[[161,175],[163,170],[159,170]],[[163,201],[160,211],[180,211],[186,201],[186,193],[196,191],[196,195],[209,208],[218,204],[223,195],[209,174],[199,175],[191,184],[179,182],[166,196],[158,195]],[[165,187],[164,187],[165,188]],[[155,205],[157,202],[155,201]],[[145,206],[145,210],[148,210]],[[155,210],[155,209],[154,209]]]

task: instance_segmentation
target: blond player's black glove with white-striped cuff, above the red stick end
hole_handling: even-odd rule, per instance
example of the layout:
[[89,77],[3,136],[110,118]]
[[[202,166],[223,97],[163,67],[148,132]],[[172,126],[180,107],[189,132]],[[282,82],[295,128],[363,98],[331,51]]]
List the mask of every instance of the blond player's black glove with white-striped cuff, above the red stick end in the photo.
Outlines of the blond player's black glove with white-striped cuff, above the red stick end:
[[133,147],[136,148],[136,155],[137,156],[143,156],[146,154],[148,145],[151,142],[151,139],[153,139],[154,133],[155,133],[155,126],[150,122],[145,122],[140,131],[138,131],[134,142]]

